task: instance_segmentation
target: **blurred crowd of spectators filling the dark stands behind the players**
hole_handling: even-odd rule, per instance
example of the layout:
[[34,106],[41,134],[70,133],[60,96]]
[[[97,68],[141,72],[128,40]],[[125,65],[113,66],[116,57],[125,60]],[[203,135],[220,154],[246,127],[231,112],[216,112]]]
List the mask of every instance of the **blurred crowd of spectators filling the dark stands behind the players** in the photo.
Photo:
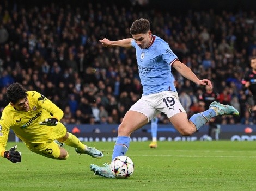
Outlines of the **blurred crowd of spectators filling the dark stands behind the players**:
[[[253,124],[255,104],[241,80],[256,56],[255,11],[170,11],[95,2],[87,6],[51,3],[0,3],[0,112],[5,91],[20,82],[64,111],[62,122],[118,124],[142,95],[134,49],[104,48],[100,39],[131,37],[130,26],[147,18],[151,31],[167,41],[199,79],[214,84],[215,100],[233,105],[240,116],[221,124]],[[205,87],[174,71],[175,85],[188,115],[208,109]],[[211,100],[212,101],[212,100]],[[188,116],[188,117],[189,117]],[[169,123],[161,115],[159,123]]]

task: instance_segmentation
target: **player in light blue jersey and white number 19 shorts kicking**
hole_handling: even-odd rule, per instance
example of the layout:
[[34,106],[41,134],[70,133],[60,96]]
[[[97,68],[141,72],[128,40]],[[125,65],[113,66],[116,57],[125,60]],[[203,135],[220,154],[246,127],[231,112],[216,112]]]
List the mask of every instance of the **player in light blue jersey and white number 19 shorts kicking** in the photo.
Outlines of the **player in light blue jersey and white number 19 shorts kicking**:
[[[148,20],[141,18],[133,22],[130,33],[132,38],[117,41],[110,41],[106,38],[100,40],[104,47],[135,48],[139,77],[143,86],[141,99],[131,106],[118,127],[118,137],[113,149],[112,160],[126,154],[133,131],[147,124],[161,112],[167,115],[176,130],[184,136],[192,135],[212,117],[222,114],[239,114],[233,106],[214,101],[208,110],[194,114],[188,120],[174,86],[172,67],[198,86],[212,88],[211,81],[198,79],[190,68],[181,63],[169,45],[151,33]],[[91,164],[90,169],[96,175],[114,178],[106,163],[103,167]]]

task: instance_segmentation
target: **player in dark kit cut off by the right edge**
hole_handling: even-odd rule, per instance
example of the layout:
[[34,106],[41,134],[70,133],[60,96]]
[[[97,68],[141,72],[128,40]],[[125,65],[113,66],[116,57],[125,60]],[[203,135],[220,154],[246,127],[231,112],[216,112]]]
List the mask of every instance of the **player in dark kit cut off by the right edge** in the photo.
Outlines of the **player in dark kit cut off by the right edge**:
[[245,74],[245,77],[242,79],[242,84],[244,89],[249,89],[253,95],[254,106],[252,111],[254,112],[254,119],[256,119],[256,57],[251,59],[251,69]]

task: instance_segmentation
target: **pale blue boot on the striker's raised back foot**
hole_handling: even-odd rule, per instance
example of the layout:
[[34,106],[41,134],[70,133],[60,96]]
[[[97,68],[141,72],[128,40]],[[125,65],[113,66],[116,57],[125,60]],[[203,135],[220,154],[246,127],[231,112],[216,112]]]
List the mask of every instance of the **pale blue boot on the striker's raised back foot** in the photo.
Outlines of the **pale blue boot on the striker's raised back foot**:
[[223,105],[216,101],[212,102],[209,106],[209,109],[213,109],[216,112],[216,115],[235,115],[238,116],[239,112],[235,109],[235,107],[231,105]]

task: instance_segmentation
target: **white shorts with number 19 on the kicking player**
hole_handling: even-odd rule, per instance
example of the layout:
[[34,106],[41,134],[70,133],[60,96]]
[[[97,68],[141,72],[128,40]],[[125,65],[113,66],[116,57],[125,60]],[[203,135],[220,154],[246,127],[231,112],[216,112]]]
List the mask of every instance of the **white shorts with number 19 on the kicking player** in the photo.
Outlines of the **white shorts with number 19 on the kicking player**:
[[143,113],[150,122],[157,114],[164,113],[168,118],[177,113],[185,112],[180,103],[177,92],[163,91],[159,93],[143,95],[130,110]]

